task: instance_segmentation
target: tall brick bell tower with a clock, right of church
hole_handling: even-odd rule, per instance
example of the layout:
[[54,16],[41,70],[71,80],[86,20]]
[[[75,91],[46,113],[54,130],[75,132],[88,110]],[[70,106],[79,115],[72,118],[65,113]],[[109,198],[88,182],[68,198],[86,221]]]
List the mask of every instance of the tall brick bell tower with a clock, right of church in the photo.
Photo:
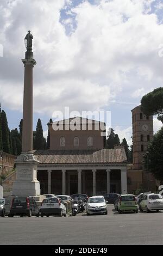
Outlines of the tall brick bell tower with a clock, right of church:
[[147,117],[141,105],[131,110],[133,123],[133,169],[142,169],[143,154],[153,139],[153,116]]

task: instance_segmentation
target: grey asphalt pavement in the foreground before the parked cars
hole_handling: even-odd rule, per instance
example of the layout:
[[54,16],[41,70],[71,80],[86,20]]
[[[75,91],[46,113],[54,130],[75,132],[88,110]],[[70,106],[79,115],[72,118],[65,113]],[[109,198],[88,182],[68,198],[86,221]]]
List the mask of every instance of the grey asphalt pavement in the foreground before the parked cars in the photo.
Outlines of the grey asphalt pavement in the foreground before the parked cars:
[[0,218],[0,245],[162,245],[163,211]]

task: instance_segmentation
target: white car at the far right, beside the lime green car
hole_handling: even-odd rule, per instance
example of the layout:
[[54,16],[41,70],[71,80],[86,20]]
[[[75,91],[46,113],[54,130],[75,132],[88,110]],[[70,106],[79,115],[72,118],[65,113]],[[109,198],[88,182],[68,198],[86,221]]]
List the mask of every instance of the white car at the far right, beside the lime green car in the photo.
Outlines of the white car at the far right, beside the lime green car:
[[163,210],[163,198],[160,194],[145,194],[139,205],[140,211]]

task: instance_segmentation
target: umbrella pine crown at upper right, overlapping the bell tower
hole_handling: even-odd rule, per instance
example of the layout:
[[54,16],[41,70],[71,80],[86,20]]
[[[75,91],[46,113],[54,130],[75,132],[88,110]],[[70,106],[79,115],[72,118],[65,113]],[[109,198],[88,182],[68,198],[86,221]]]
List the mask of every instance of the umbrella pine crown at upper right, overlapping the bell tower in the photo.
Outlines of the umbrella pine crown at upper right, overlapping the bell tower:
[[147,116],[158,114],[158,120],[163,124],[163,87],[156,88],[142,97],[141,111]]

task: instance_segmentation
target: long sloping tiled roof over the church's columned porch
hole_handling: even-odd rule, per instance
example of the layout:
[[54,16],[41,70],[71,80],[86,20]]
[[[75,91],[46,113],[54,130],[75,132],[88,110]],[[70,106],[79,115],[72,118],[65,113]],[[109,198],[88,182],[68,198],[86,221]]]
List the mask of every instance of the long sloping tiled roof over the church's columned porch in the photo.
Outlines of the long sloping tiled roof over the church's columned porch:
[[101,150],[35,150],[42,164],[104,164],[127,163],[124,148]]

